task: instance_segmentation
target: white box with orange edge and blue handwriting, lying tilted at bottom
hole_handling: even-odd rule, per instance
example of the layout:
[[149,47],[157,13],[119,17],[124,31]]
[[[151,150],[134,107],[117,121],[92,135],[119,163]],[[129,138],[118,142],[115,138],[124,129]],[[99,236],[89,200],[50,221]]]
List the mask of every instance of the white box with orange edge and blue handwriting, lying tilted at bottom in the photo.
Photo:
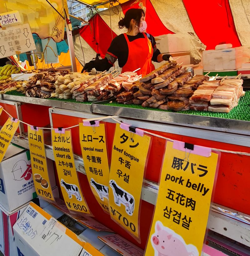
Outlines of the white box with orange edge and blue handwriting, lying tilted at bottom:
[[13,226],[18,256],[79,256],[85,242],[34,203]]

